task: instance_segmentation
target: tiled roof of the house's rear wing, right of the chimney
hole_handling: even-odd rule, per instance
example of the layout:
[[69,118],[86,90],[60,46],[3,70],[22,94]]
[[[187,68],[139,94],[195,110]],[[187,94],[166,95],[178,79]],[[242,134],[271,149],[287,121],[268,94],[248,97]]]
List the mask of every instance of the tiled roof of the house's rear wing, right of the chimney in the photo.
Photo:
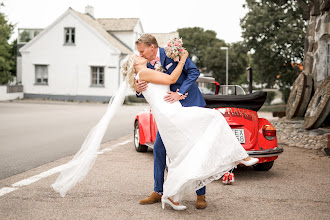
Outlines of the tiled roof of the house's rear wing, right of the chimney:
[[103,25],[106,31],[133,31],[139,18],[99,18],[97,19]]

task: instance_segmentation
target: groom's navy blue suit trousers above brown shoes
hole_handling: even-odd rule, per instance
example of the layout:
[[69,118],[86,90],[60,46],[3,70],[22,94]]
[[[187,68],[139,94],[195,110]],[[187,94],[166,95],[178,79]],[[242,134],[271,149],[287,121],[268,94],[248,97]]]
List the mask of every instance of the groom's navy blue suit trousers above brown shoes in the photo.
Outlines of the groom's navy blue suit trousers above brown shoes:
[[[166,167],[166,149],[163,144],[162,138],[157,132],[157,137],[154,144],[154,180],[155,192],[163,192],[163,184],[164,184],[164,173]],[[205,186],[196,191],[197,195],[205,195],[206,188]]]

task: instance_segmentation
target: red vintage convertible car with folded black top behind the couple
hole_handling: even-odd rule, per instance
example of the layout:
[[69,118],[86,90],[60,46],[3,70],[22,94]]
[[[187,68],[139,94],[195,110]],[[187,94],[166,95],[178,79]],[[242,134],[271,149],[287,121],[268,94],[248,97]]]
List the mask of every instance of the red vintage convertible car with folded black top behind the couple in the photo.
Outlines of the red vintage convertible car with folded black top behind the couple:
[[[245,94],[240,86],[220,86],[212,77],[199,77],[197,83],[206,101],[205,107],[221,112],[247,153],[259,158],[254,170],[270,170],[283,148],[277,144],[276,129],[272,124],[258,117],[257,111],[264,104],[267,92]],[[134,121],[136,151],[152,148],[156,134],[157,125],[151,111],[139,113]]]

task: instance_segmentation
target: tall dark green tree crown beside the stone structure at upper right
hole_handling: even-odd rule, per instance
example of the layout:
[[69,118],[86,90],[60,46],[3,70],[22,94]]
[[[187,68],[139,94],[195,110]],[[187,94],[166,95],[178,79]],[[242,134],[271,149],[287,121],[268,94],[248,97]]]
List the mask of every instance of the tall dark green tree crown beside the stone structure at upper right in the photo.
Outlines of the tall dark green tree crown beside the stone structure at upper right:
[[299,74],[295,64],[304,52],[305,22],[294,0],[246,0],[241,20],[244,44],[252,52],[254,81],[289,87]]

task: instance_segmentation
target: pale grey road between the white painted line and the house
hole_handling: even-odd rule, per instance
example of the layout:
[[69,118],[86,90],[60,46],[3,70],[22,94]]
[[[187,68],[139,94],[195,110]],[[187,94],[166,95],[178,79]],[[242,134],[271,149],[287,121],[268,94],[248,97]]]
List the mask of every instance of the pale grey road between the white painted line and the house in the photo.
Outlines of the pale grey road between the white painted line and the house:
[[[103,142],[131,134],[135,115],[148,108],[122,106]],[[106,109],[100,103],[0,102],[0,180],[76,153]]]

